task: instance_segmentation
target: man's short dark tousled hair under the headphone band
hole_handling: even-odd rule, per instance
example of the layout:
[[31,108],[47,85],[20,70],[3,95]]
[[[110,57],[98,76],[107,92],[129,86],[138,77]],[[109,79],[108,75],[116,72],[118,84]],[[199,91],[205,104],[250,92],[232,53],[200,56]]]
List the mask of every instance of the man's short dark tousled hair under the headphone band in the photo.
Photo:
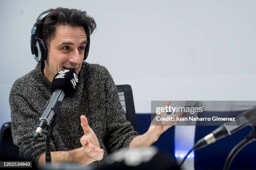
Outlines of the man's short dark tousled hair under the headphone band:
[[44,22],[41,24],[37,36],[37,38],[43,39],[48,47],[51,39],[55,36],[56,26],[58,25],[82,26],[87,36],[92,34],[96,28],[95,20],[88,16],[86,11],[56,8],[46,10],[39,16],[48,12],[51,13],[46,16]]

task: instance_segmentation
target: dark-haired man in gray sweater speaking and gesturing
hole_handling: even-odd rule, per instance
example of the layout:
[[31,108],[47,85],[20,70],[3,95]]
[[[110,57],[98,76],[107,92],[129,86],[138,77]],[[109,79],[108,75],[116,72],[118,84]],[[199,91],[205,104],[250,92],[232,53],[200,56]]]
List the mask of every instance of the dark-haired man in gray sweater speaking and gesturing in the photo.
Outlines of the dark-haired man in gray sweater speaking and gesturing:
[[[64,98],[59,109],[59,121],[50,142],[52,163],[97,165],[117,150],[151,145],[173,125],[150,126],[148,132],[139,136],[123,116],[108,70],[83,62],[89,36],[96,27],[94,19],[76,9],[56,8],[41,15],[45,13],[49,14],[37,28],[37,38],[44,40],[39,43],[43,48],[45,43],[46,60],[38,60],[36,68],[16,80],[10,92],[13,141],[20,147],[21,157],[29,157],[33,132],[53,93],[51,81],[65,68],[76,70],[79,83],[76,92]],[[36,163],[45,163],[47,130],[48,127],[33,146],[31,156]]]

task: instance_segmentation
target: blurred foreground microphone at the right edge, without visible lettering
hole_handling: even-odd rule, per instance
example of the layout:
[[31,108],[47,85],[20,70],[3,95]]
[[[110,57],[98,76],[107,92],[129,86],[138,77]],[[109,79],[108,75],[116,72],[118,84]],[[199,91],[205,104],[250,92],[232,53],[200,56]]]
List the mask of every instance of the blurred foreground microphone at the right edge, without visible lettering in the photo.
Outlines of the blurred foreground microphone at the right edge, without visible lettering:
[[248,124],[256,124],[256,106],[241,113],[238,117],[235,118],[235,121],[229,121],[224,123],[217,129],[212,131],[212,133],[197,141],[197,143],[193,146],[193,149],[197,150],[207,145],[210,145],[211,143],[214,143],[215,141],[223,137],[237,132]]

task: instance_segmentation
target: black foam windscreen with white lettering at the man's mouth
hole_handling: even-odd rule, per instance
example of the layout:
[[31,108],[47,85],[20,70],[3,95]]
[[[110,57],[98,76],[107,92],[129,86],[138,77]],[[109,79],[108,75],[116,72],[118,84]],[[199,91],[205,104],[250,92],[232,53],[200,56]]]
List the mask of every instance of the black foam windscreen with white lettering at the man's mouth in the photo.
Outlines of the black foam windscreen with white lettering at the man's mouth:
[[78,77],[75,69],[64,69],[59,71],[52,80],[53,90],[63,90],[65,97],[72,95],[75,92],[78,84]]

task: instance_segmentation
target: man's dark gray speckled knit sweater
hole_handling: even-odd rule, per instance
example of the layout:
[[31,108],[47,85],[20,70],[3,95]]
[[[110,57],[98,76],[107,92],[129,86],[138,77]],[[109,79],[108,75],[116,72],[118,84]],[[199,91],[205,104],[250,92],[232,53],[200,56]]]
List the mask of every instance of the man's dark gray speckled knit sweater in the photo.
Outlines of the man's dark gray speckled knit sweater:
[[[80,116],[87,117],[100,147],[104,150],[101,161],[119,149],[128,147],[137,132],[125,120],[118,93],[108,70],[97,64],[84,62],[78,74],[79,83],[75,94],[64,98],[59,109],[59,122],[51,138],[51,151],[68,151],[82,147],[84,135]],[[51,82],[41,72],[41,64],[13,84],[10,91],[10,108],[13,142],[20,147],[20,157],[28,159],[33,133],[43,113],[46,101],[53,91]],[[32,159],[37,163],[45,153],[48,126],[34,143]]]

